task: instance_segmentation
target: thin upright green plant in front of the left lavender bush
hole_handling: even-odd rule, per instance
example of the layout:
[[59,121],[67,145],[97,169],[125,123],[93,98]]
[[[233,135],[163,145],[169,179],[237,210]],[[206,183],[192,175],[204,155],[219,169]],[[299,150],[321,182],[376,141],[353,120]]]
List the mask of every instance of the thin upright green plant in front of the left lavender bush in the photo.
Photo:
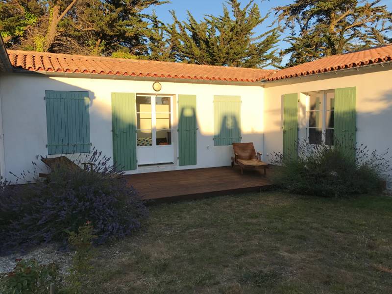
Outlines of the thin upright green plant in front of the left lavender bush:
[[90,262],[94,256],[93,240],[94,227],[90,221],[79,227],[79,231],[69,232],[68,242],[75,250],[72,258],[70,274],[66,277],[66,286],[60,293],[79,294],[82,293],[83,281],[88,279],[90,271],[93,269]]

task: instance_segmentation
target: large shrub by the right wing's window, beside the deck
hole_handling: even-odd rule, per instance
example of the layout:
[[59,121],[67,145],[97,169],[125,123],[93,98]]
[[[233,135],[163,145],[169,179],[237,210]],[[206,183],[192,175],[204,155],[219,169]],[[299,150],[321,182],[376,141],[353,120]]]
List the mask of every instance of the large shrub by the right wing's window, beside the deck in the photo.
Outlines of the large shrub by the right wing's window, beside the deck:
[[273,163],[282,166],[275,169],[274,180],[291,193],[334,197],[377,192],[391,172],[388,150],[378,154],[363,144],[350,149],[338,142],[335,147],[305,141],[297,146],[297,157],[283,160],[281,153],[273,156]]

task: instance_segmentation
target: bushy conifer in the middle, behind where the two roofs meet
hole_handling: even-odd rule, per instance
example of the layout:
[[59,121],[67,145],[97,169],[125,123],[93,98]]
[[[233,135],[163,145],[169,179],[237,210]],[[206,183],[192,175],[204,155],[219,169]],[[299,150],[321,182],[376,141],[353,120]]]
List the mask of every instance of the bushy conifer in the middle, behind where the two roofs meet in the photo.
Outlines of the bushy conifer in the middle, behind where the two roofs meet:
[[[254,29],[268,17],[261,16],[257,4],[250,0],[244,8],[238,0],[229,0],[229,9],[223,7],[223,15],[206,15],[197,22],[188,11],[188,21],[180,22],[174,11],[174,25],[170,35],[175,58],[181,62],[235,66],[266,67],[280,62],[277,53],[278,28],[255,36]],[[178,30],[177,30],[178,29]]]

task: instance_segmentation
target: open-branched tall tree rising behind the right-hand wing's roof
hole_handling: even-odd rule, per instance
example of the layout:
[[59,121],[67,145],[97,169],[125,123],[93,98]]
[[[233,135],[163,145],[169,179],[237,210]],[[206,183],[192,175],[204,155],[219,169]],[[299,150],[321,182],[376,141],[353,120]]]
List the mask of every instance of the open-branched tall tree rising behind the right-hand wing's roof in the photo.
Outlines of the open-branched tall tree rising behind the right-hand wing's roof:
[[291,30],[287,66],[392,42],[392,13],[380,0],[294,0],[274,8]]

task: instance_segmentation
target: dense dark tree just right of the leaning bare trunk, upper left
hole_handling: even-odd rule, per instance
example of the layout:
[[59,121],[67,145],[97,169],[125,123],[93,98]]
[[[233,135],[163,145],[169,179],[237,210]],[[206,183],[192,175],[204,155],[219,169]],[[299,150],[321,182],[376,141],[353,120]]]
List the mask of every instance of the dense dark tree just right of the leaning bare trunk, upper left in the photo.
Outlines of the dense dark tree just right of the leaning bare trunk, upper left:
[[[78,0],[69,16],[64,34],[78,40],[91,54],[111,55],[126,52],[132,56],[148,55],[147,42],[151,26],[159,24],[156,15],[147,14],[147,7],[167,3],[166,0]],[[72,51],[73,46],[63,50]],[[60,47],[61,44],[59,44]]]

